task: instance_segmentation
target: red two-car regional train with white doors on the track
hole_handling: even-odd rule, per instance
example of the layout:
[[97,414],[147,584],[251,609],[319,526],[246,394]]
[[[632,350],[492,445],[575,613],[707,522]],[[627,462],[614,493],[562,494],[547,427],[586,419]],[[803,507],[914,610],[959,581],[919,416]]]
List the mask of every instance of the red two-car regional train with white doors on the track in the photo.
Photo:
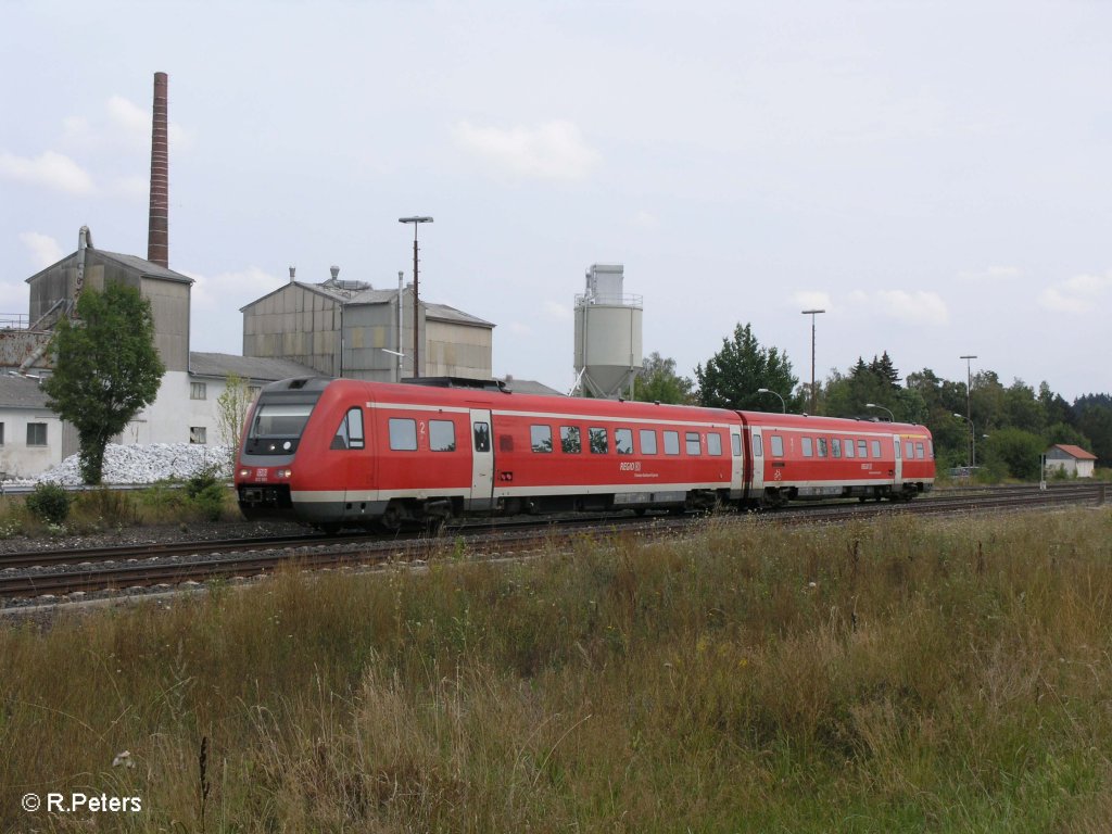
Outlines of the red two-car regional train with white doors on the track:
[[264,388],[239,450],[244,515],[395,529],[474,514],[905,500],[934,484],[924,426],[420,381]]

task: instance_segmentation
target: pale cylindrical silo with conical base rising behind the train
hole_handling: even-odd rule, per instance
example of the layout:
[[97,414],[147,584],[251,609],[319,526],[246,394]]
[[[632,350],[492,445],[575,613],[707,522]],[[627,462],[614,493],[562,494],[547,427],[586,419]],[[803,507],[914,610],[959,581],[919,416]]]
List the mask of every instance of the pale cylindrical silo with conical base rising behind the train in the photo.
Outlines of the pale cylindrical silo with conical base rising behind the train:
[[624,294],[620,264],[594,264],[575,297],[575,373],[595,397],[632,395],[642,368],[642,297]]

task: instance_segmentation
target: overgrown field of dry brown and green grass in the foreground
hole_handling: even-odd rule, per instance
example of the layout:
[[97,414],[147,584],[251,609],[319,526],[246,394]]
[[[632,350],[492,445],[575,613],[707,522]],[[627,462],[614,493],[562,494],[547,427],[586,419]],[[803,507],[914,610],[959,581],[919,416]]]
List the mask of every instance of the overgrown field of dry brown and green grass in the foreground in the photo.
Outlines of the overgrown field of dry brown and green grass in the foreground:
[[1106,508],[549,549],[0,625],[0,830],[1112,826]]

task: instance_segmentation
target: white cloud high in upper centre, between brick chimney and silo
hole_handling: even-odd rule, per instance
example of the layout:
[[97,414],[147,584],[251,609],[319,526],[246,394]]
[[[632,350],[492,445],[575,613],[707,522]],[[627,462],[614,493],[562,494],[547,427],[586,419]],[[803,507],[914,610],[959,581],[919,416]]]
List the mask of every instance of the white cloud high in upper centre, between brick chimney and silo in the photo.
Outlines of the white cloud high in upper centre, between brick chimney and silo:
[[598,151],[586,145],[579,128],[569,121],[547,121],[536,128],[508,130],[463,121],[454,132],[456,141],[466,150],[529,179],[580,180],[600,158]]

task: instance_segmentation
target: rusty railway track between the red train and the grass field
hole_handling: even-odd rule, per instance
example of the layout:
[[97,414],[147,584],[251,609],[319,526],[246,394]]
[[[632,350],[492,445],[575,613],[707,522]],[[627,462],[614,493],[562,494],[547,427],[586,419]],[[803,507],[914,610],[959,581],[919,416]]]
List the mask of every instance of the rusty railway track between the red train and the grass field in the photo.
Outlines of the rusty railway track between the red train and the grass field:
[[[1014,512],[1061,505],[1098,505],[1105,502],[1104,484],[1054,486],[1051,489],[1003,488],[953,490],[907,505],[843,503],[797,507],[766,516],[777,524],[835,523],[846,518],[906,514],[961,514]],[[454,543],[473,552],[476,545],[487,557],[523,553],[572,533],[607,536],[634,532],[648,537],[675,535],[693,523],[692,517],[647,518],[590,517],[466,524],[440,536],[411,534],[397,537],[280,536],[98,547],[79,550],[39,550],[0,555],[0,599],[44,597],[46,600],[76,593],[125,590],[202,583],[231,577],[260,576],[281,566],[321,569],[368,566],[390,562],[418,562]]]

